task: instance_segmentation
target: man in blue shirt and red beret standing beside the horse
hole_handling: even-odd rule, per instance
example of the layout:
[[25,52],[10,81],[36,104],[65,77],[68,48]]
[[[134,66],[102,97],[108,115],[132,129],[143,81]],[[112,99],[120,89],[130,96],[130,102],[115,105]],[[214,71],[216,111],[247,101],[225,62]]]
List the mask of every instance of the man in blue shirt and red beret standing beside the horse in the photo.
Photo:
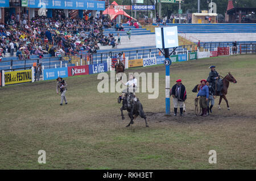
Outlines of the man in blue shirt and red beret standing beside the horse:
[[207,116],[207,101],[209,98],[209,87],[205,85],[205,79],[201,80],[200,82],[202,86],[200,87],[200,90],[196,97],[198,98],[198,96],[200,96],[199,104],[200,107],[202,108],[202,113],[200,116]]

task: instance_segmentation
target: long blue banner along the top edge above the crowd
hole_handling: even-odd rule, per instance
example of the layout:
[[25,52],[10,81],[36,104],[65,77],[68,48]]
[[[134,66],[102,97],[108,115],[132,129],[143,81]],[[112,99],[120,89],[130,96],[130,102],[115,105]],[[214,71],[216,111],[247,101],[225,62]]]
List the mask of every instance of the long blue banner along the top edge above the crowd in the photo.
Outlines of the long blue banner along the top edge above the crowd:
[[[1,5],[0,0],[0,5]],[[30,8],[46,8],[46,9],[71,9],[71,10],[105,10],[105,1],[91,0],[30,0],[28,1]],[[9,1],[8,1],[9,5]]]

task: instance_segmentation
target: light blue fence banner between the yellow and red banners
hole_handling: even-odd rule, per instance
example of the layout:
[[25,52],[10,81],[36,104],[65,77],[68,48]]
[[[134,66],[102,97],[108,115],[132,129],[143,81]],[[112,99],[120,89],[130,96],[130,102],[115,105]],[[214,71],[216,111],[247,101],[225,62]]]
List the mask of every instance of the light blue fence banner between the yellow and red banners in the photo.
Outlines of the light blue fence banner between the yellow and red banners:
[[68,68],[44,69],[44,80],[68,77]]

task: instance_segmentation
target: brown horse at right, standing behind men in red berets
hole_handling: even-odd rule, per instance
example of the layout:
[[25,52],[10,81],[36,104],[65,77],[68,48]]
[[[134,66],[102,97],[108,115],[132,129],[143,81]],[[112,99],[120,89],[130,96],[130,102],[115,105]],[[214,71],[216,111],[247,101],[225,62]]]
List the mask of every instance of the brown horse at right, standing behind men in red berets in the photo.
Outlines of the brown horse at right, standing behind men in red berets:
[[[236,79],[233,77],[232,74],[230,74],[230,72],[228,73],[228,75],[226,75],[223,78],[223,88],[221,90],[221,95],[217,95],[217,96],[220,96],[220,101],[218,102],[219,110],[221,109],[220,104],[221,104],[222,98],[226,101],[226,106],[228,107],[228,110],[230,110],[228,99],[226,99],[226,94],[228,94],[229,82],[237,83]],[[197,92],[200,90],[200,87],[201,87],[201,83],[196,85],[192,91]]]

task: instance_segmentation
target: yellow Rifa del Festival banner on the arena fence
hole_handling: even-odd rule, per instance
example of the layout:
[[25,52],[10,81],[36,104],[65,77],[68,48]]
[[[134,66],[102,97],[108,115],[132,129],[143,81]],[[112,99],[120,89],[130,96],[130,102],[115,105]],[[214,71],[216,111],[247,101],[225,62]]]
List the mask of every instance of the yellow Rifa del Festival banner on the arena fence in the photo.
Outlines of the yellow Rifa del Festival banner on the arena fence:
[[32,82],[32,70],[6,71],[5,85]]

